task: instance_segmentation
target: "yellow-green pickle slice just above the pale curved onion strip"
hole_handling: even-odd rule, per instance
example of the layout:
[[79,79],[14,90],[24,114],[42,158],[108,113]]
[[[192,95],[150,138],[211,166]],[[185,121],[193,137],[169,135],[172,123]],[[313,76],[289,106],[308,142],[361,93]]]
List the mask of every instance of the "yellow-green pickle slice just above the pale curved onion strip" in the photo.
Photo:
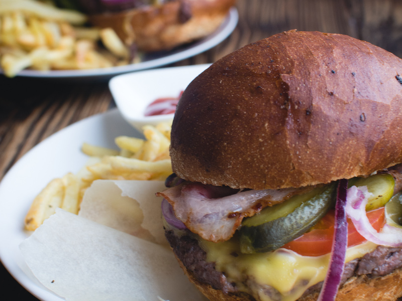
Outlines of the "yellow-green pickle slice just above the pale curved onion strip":
[[376,174],[367,178],[357,178],[353,185],[367,186],[368,192],[372,193],[366,205],[366,211],[371,211],[384,206],[389,201],[393,195],[395,180],[390,174]]

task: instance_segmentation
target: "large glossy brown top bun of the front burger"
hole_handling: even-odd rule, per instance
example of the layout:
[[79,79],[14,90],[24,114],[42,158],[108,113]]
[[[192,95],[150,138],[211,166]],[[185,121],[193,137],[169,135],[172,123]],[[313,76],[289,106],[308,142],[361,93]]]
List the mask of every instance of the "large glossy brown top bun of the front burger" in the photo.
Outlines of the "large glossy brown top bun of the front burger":
[[222,58],[185,89],[173,171],[280,189],[402,162],[402,60],[339,34],[288,31]]

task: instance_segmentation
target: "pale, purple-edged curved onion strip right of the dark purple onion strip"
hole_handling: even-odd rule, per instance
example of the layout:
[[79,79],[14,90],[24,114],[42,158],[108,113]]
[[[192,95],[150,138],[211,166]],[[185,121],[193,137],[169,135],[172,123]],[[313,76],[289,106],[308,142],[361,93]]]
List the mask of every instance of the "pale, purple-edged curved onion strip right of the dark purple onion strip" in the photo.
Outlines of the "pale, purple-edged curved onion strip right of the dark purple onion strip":
[[346,214],[352,220],[357,232],[368,241],[390,247],[402,246],[402,228],[385,224],[381,232],[377,232],[366,215],[367,188],[352,186],[348,189]]

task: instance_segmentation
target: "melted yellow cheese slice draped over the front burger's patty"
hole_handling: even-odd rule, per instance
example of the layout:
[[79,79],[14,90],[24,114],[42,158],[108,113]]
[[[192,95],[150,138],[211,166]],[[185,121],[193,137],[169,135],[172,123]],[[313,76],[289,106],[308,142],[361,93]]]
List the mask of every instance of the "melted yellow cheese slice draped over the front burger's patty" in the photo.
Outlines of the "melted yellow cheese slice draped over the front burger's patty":
[[[207,261],[215,262],[228,281],[259,301],[296,300],[307,288],[324,280],[330,261],[330,254],[302,256],[287,249],[241,254],[236,239],[220,243],[201,240],[200,245],[207,252]],[[346,262],[372,252],[376,246],[365,242],[348,248]]]

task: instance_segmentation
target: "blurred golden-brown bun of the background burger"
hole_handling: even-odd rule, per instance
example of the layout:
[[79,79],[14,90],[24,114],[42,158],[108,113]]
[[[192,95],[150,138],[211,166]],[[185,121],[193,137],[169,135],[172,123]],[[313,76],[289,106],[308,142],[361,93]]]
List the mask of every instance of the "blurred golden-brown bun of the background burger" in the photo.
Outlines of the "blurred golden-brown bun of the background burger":
[[113,28],[126,44],[134,42],[140,51],[154,52],[212,34],[234,4],[235,0],[175,0],[121,13],[92,15],[89,22],[100,28]]

